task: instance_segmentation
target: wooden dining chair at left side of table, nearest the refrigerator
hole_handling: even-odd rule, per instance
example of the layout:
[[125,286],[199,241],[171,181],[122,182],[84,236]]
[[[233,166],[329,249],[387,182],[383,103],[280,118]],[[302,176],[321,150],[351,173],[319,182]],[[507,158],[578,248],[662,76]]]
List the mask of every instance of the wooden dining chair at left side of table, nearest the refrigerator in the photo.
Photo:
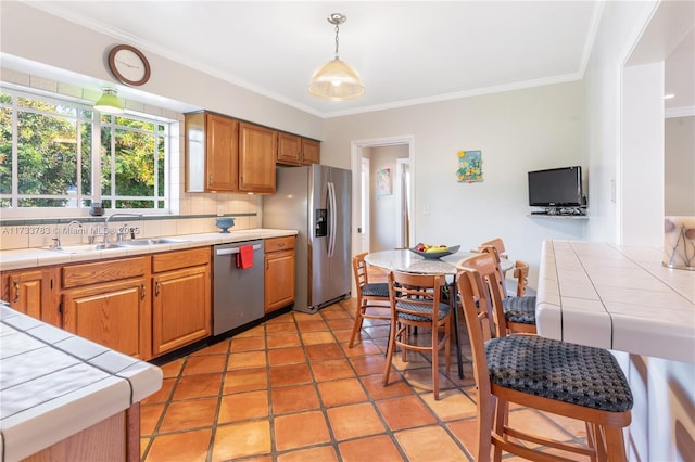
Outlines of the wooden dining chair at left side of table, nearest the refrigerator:
[[368,252],[357,254],[352,259],[352,269],[357,286],[357,310],[355,323],[350,335],[350,348],[354,346],[355,337],[362,330],[365,319],[391,321],[391,304],[389,299],[389,284],[386,282],[369,282],[369,271],[365,256]]

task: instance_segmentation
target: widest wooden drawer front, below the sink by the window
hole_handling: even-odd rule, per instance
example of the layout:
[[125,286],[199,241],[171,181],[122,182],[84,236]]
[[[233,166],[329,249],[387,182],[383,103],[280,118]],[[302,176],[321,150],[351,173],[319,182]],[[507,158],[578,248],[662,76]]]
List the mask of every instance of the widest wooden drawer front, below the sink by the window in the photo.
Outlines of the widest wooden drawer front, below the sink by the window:
[[101,282],[139,278],[148,270],[150,257],[121,258],[96,264],[70,265],[63,267],[63,287],[79,287]]

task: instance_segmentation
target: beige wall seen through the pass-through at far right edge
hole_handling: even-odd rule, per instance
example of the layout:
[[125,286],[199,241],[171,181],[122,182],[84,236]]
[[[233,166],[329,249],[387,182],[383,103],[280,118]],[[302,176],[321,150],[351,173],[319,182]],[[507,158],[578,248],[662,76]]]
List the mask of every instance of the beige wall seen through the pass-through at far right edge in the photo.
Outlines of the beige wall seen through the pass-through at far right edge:
[[665,214],[695,216],[695,116],[667,118],[665,125]]

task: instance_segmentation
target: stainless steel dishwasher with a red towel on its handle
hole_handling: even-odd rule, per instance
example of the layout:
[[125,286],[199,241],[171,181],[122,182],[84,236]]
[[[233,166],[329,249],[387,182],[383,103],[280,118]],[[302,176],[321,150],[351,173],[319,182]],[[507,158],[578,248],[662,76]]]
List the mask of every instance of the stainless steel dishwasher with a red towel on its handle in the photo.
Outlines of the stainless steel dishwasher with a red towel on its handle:
[[[237,268],[242,245],[253,246],[251,268]],[[262,240],[218,244],[213,248],[213,335],[219,335],[265,315],[264,252]]]

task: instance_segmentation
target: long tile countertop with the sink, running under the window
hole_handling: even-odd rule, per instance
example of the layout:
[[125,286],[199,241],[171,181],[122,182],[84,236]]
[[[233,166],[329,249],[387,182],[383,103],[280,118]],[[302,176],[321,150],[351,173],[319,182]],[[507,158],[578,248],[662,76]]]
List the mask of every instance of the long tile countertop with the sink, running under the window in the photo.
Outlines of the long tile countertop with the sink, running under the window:
[[[22,248],[14,251],[0,251],[0,271],[22,268],[36,268],[49,265],[65,265],[78,261],[99,260],[102,258],[130,257],[135,255],[152,254],[156,252],[181,251],[205,245],[226,244],[229,242],[281,238],[287,235],[295,235],[296,233],[296,230],[253,229],[229,231],[229,233],[217,232],[204,234],[156,236],[172,238],[185,242],[109,248],[105,251],[94,251],[79,254],[67,254],[63,252],[52,251],[50,248]],[[70,248],[70,246],[67,246],[67,248]]]

